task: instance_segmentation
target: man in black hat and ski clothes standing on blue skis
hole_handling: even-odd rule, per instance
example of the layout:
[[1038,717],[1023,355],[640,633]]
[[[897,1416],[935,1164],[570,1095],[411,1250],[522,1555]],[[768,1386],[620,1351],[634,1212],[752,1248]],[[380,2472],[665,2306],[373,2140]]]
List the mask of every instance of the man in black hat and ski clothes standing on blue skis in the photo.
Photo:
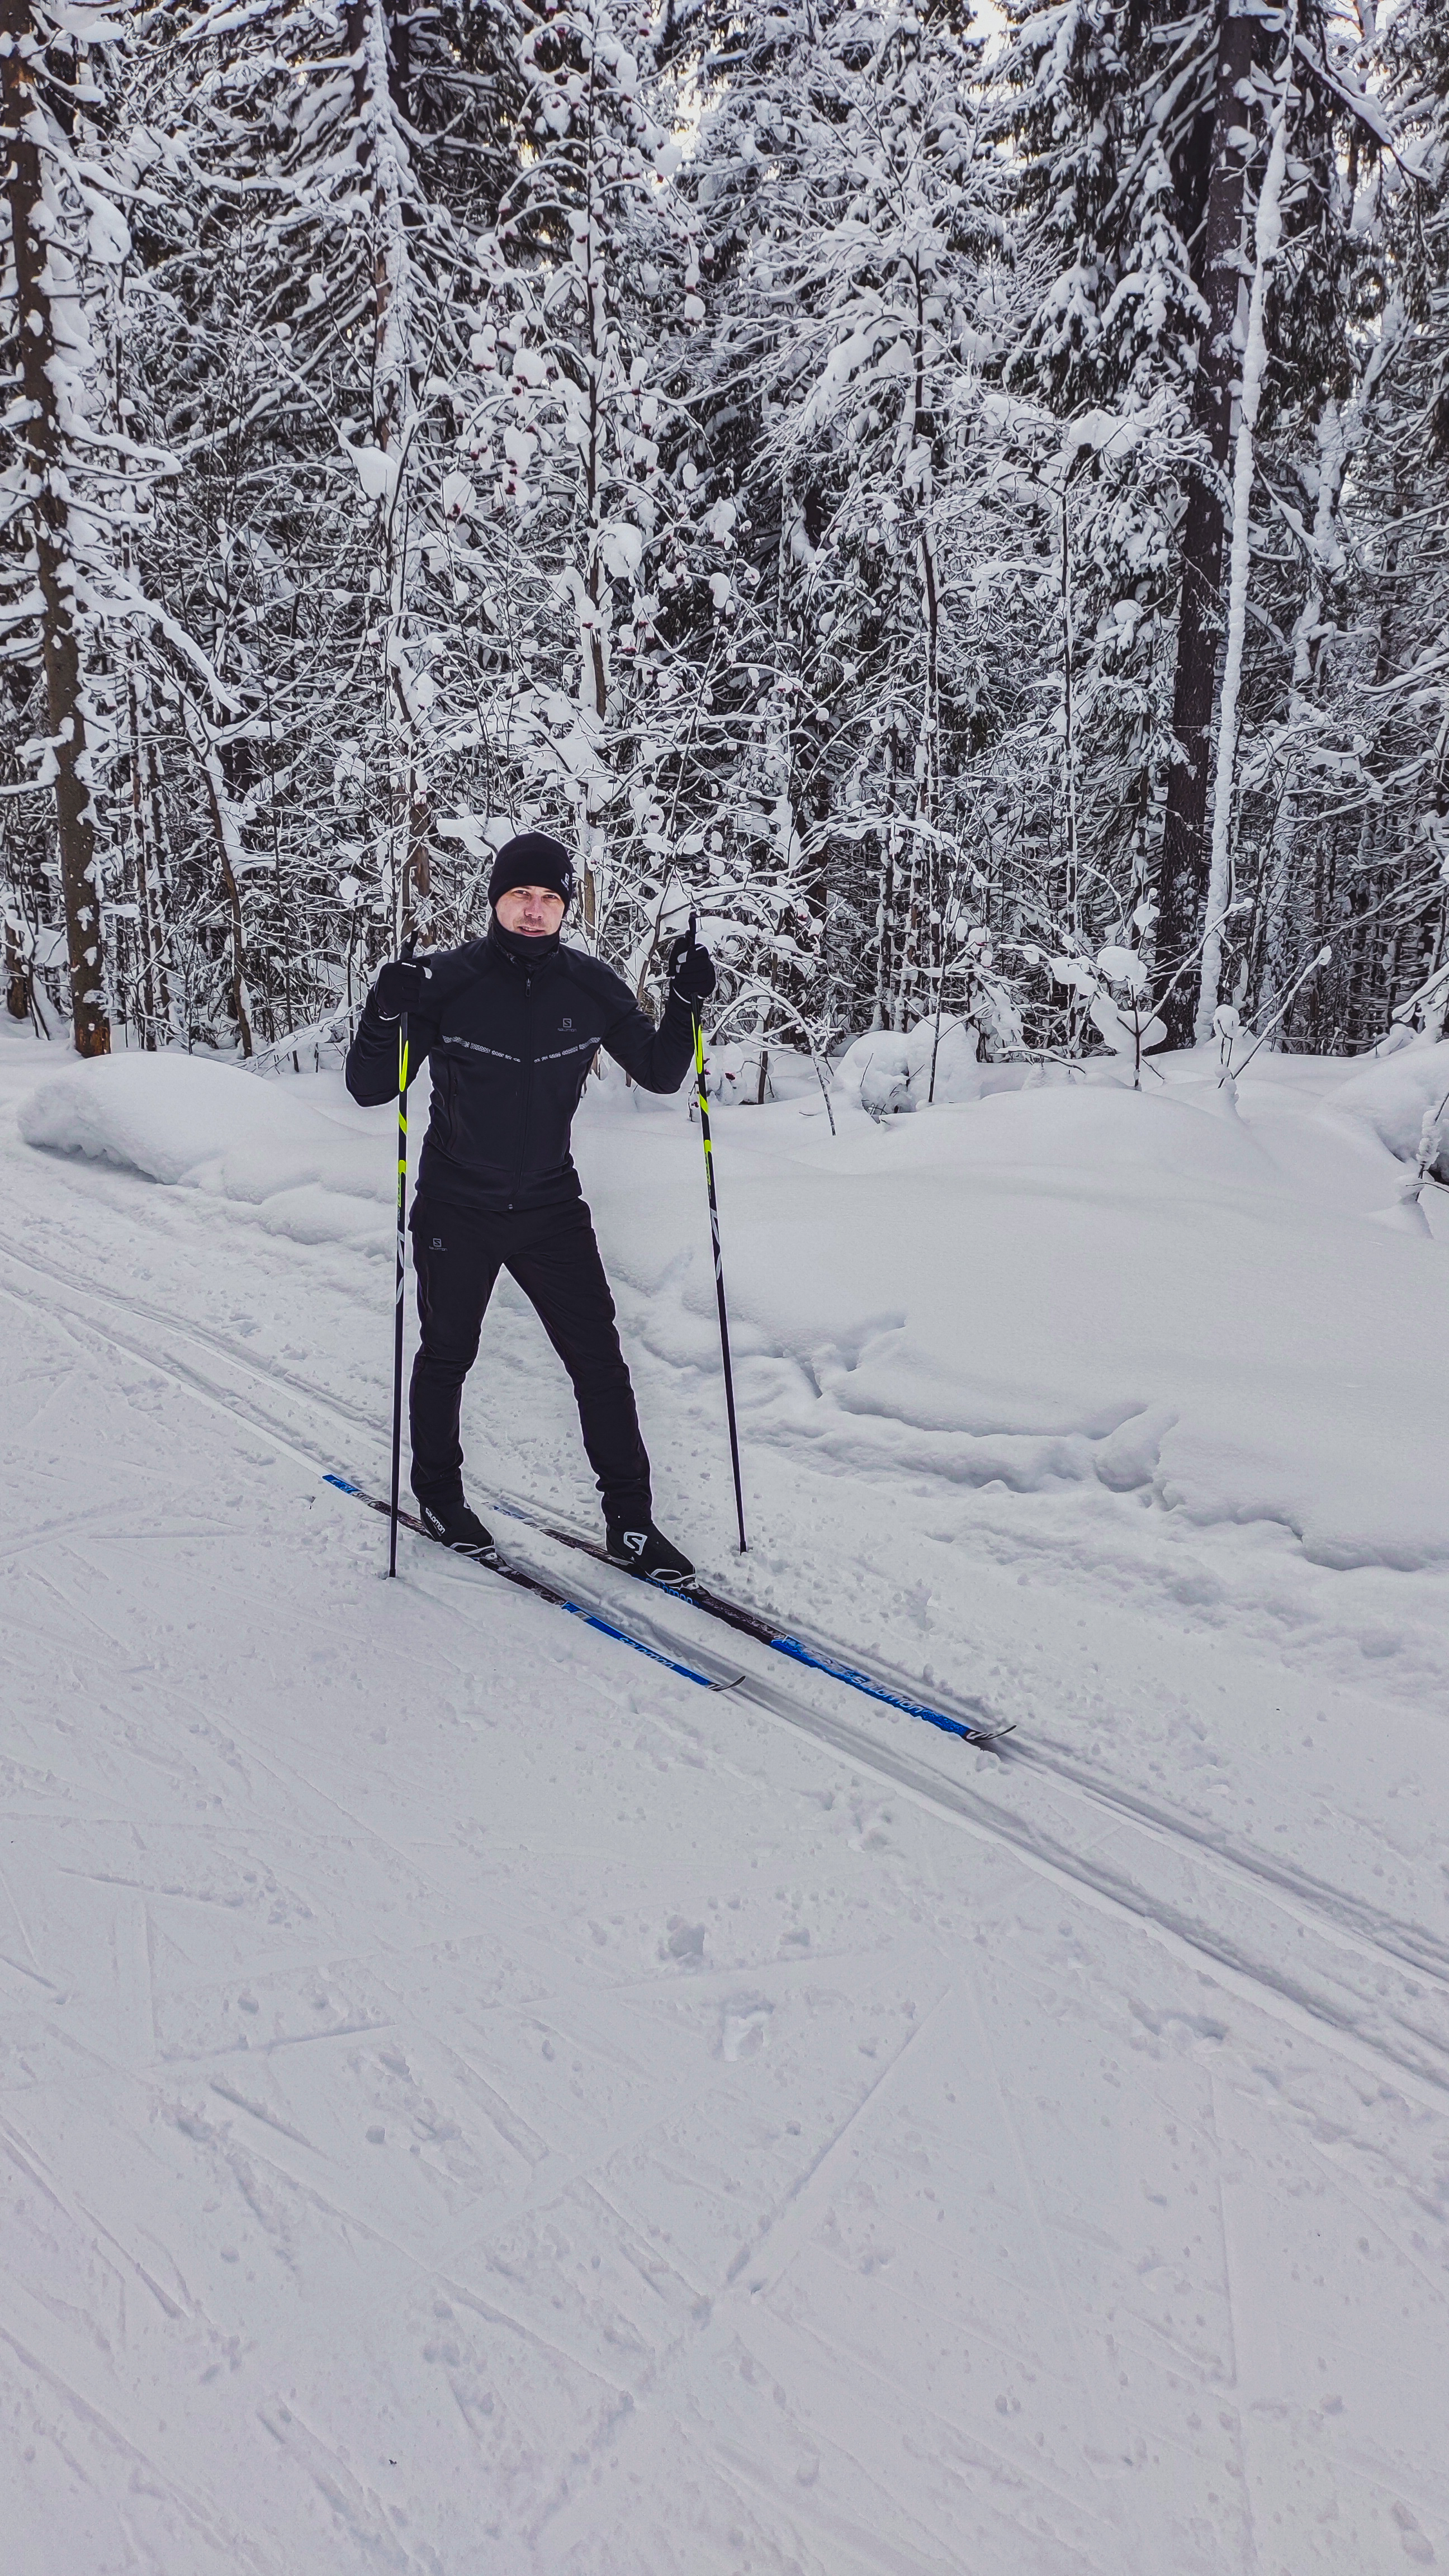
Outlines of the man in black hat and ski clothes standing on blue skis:
[[433,1061],[413,1198],[423,1324],[410,1394],[413,1492],[443,1546],[464,1556],[492,1548],[464,1502],[459,1404],[492,1283],[508,1270],[572,1378],[608,1553],[634,1574],[691,1582],[688,1556],[655,1530],[650,1458],[570,1126],[601,1046],[642,1090],[678,1092],[714,966],[694,940],[673,943],[655,1028],[608,966],[559,945],[570,899],[567,850],[547,832],[521,832],[487,881],[487,938],[384,966],[348,1054],[348,1092],[364,1105],[397,1097],[402,1012],[410,1077],[425,1056]]

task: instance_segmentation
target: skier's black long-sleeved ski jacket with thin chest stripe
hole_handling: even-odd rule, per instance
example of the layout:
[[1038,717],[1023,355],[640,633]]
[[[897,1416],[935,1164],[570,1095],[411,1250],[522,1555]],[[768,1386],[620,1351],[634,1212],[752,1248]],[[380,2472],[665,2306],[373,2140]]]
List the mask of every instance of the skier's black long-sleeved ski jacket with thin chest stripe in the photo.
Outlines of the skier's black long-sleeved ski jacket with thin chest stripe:
[[[678,1092],[694,1056],[694,1015],[670,992],[660,1025],[629,987],[580,948],[511,953],[498,927],[467,948],[418,958],[428,999],[407,1015],[407,1074],[433,1066],[433,1115],[418,1188],[477,1216],[580,1198],[572,1113],[596,1048],[647,1092]],[[348,1092],[397,1100],[397,1020],[369,994],[348,1048]]]

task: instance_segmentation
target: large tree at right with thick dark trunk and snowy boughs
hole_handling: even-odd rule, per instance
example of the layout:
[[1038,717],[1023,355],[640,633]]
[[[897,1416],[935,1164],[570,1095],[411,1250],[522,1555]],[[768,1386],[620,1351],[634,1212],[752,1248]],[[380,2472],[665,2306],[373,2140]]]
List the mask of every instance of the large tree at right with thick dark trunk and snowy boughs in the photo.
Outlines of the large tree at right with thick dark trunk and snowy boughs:
[[[1150,608],[1137,623],[1150,639],[1140,677],[1152,721],[1140,737],[1145,768],[1124,775],[1122,809],[1160,814],[1155,945],[1176,1038],[1191,1036],[1199,1015],[1204,940],[1209,981],[1220,971],[1240,979],[1261,953],[1238,930],[1225,943],[1225,922],[1263,866],[1258,842],[1250,855],[1238,850],[1240,773],[1292,685],[1292,652],[1279,652],[1274,670],[1274,657],[1258,652],[1248,667],[1243,652],[1225,662],[1235,430],[1258,216],[1281,126],[1256,343],[1261,422],[1243,456],[1238,513],[1240,611],[1253,623],[1258,600],[1248,587],[1261,556],[1271,562],[1287,544],[1292,585],[1312,577],[1299,495],[1307,482],[1318,487],[1323,417],[1348,399],[1354,374],[1346,167],[1374,160],[1382,144],[1356,46],[1359,28],[1320,0],[1217,0],[1212,10],[1129,0],[1021,10],[1008,54],[1024,198],[1042,245],[1055,247],[1013,379],[1026,371],[1065,417],[1106,404],[1158,425],[1140,448],[1147,487],[1137,513],[1158,538],[1145,549],[1155,587],[1132,590],[1137,611]],[[1284,611],[1287,598],[1274,608]],[[1299,608],[1287,608],[1289,626]],[[1173,629],[1171,657],[1152,649],[1163,623]],[[1243,721],[1235,714],[1217,762],[1222,680],[1235,662]],[[1235,925],[1243,917],[1232,909]]]

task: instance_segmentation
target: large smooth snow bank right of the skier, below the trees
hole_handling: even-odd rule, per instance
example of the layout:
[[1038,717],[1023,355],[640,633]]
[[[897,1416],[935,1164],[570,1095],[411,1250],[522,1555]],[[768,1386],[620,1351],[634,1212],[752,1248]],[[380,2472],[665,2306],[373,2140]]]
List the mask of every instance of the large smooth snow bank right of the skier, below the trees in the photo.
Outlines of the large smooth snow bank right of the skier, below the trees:
[[[799,1110],[740,1110],[717,1170],[748,1437],[1276,1522],[1328,1566],[1449,1561],[1444,1247],[1325,1203],[1323,1154],[1287,1180],[1281,1097],[1276,1154],[1214,1097],[1052,1087],[810,1146]],[[637,1329],[706,1373],[699,1149],[650,1188],[663,1141],[596,1123],[580,1159]]]

